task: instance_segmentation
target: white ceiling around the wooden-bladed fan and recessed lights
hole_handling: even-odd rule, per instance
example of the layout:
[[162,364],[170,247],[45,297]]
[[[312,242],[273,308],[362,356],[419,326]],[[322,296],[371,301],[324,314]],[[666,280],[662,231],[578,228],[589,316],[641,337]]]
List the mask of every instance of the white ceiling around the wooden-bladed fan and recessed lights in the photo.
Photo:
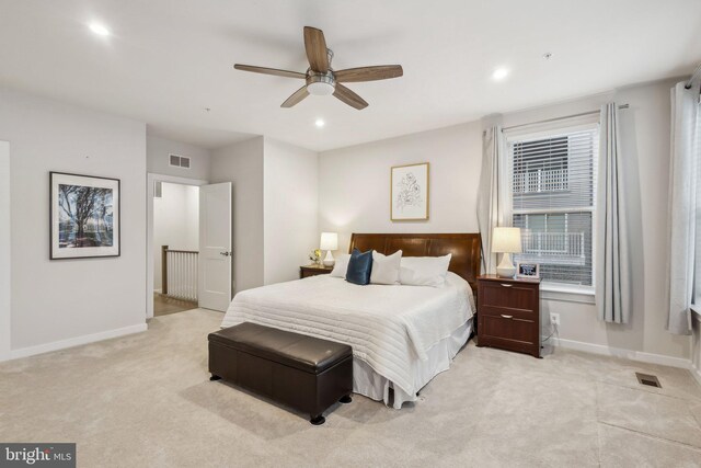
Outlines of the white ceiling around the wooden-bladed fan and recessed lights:
[[[96,36],[91,21],[113,34]],[[232,65],[304,71],[304,25],[324,31],[335,69],[401,64],[404,77],[348,84],[364,111],[332,96],[280,109],[299,81]],[[0,84],[209,148],[252,134],[338,148],[688,75],[699,61],[699,0],[0,0]],[[502,66],[512,72],[494,82]]]

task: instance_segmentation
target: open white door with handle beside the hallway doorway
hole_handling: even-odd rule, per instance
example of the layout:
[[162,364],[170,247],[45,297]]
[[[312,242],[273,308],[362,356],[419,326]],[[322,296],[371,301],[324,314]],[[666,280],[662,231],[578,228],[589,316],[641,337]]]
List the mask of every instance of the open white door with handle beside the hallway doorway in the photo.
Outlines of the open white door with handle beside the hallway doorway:
[[231,301],[231,182],[199,187],[199,307]]

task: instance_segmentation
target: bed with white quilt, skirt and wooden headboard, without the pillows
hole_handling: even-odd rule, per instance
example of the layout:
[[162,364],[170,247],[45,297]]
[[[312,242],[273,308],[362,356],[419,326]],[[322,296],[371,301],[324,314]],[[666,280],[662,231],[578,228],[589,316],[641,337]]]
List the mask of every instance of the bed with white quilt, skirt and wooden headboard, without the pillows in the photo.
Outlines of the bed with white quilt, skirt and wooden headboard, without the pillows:
[[221,327],[254,322],[349,344],[354,391],[400,409],[450,362],[473,331],[478,233],[354,233],[352,251],[451,253],[446,286],[357,286],[329,275],[237,294]]

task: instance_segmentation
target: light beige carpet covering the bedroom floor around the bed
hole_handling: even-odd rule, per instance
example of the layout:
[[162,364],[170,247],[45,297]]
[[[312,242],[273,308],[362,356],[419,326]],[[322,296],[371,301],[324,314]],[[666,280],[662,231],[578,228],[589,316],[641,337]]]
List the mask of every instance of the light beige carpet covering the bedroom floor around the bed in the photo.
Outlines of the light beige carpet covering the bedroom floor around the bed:
[[[687,370],[555,350],[462,350],[392,410],[355,396],[326,423],[210,383],[192,310],[149,331],[0,364],[0,441],[77,442],[82,467],[701,466],[701,390]],[[642,387],[634,372],[659,377]]]

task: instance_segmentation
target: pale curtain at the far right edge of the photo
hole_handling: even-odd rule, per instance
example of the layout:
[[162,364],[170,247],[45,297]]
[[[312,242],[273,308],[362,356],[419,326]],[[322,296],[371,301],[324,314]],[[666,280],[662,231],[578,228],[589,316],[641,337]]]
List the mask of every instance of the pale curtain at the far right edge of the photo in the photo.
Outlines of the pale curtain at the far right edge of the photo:
[[685,89],[685,84],[680,82],[671,89],[667,330],[676,334],[691,333],[694,259],[701,254],[696,249],[697,209],[701,208],[697,153],[699,83],[691,89]]

